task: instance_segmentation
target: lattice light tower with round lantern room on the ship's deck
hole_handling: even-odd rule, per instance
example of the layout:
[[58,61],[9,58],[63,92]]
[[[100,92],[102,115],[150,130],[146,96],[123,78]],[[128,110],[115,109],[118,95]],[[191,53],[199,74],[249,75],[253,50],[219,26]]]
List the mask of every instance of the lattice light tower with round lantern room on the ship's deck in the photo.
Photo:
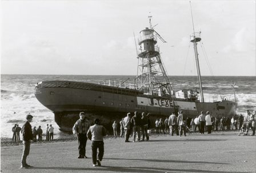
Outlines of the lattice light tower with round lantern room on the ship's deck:
[[165,68],[163,67],[157,38],[165,40],[153,29],[149,15],[149,28],[140,32],[139,52],[138,52],[138,71],[136,87],[149,95],[171,96],[171,88]]

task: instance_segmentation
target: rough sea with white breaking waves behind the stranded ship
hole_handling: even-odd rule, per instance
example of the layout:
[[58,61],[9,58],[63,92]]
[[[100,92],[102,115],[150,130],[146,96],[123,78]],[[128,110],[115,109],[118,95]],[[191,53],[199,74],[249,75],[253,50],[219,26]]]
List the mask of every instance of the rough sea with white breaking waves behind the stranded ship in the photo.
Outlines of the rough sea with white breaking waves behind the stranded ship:
[[[12,137],[11,128],[15,123],[22,127],[27,114],[34,116],[32,127],[41,126],[43,134],[46,124],[54,127],[54,138],[65,138],[72,134],[61,132],[54,122],[54,114],[43,106],[34,95],[35,85],[40,81],[67,80],[90,83],[126,81],[133,85],[134,76],[126,75],[1,75],[1,137]],[[234,99],[232,81],[235,83],[235,96],[238,99],[237,114],[256,109],[256,77],[202,77],[205,101]],[[170,76],[169,80],[174,91],[181,88],[198,88],[197,77]],[[125,115],[124,115],[125,116]],[[79,118],[79,116],[77,117]],[[45,139],[43,137],[43,139]]]

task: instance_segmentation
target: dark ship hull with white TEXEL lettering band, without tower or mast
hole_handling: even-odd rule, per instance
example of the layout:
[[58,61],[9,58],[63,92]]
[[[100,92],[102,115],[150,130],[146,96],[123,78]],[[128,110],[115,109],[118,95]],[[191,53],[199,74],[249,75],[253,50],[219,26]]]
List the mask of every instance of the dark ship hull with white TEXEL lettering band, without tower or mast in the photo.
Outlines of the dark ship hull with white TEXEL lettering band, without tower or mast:
[[54,112],[55,122],[62,131],[71,131],[81,111],[86,112],[91,122],[99,118],[104,126],[111,129],[113,121],[119,122],[127,112],[150,112],[153,124],[156,118],[165,118],[171,112],[182,110],[189,118],[195,118],[203,110],[220,117],[234,115],[237,107],[237,103],[229,100],[215,103],[174,100],[168,96],[145,95],[129,88],[71,81],[41,82],[35,87],[35,96]]

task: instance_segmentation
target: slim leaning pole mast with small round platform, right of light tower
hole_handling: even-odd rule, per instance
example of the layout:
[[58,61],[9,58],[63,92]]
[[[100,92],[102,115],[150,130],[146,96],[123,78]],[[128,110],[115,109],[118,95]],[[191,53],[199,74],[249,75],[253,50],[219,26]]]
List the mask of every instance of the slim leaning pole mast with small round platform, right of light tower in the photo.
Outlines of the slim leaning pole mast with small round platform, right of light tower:
[[191,18],[192,18],[193,32],[194,32],[192,35],[190,35],[190,42],[192,42],[194,45],[195,62],[197,64],[197,76],[198,76],[198,82],[200,87],[201,102],[205,102],[205,99],[203,98],[203,88],[202,88],[202,82],[201,82],[201,73],[200,73],[198,51],[197,51],[197,42],[201,41],[201,37],[200,37],[201,32],[195,33],[191,3],[190,3],[190,9],[191,9]]

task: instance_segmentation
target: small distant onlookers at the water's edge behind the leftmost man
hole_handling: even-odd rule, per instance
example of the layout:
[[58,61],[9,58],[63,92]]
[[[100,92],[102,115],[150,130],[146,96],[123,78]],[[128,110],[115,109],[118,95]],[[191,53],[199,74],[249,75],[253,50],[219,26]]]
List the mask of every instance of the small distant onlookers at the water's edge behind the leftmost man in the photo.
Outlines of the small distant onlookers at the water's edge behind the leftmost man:
[[[13,140],[14,141],[20,141],[19,134],[20,132],[23,132],[24,127],[19,127],[19,124],[14,124],[14,127],[12,128],[13,131]],[[47,124],[46,127],[46,141],[53,140],[53,132],[54,132],[54,127],[51,126],[49,127],[49,124]],[[34,142],[41,142],[42,141],[42,135],[43,135],[43,130],[41,126],[38,126],[38,128],[35,126],[32,130],[32,136],[33,136],[33,141]],[[38,136],[38,138],[37,138]]]

